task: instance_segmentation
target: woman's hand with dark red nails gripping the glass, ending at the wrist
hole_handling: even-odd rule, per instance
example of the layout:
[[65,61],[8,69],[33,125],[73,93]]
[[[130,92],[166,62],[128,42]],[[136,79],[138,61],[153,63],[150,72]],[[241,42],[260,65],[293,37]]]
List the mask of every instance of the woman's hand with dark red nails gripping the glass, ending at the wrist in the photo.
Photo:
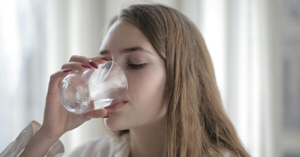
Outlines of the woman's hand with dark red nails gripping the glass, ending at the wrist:
[[44,120],[40,128],[41,133],[47,138],[58,139],[65,132],[75,129],[91,118],[105,118],[109,113],[105,109],[94,110],[82,115],[68,112],[61,103],[59,96],[59,85],[68,74],[77,70],[85,71],[88,68],[98,68],[97,64],[106,63],[107,60],[97,57],[72,56],[68,63],[65,63],[60,71],[52,74],[49,81]]

